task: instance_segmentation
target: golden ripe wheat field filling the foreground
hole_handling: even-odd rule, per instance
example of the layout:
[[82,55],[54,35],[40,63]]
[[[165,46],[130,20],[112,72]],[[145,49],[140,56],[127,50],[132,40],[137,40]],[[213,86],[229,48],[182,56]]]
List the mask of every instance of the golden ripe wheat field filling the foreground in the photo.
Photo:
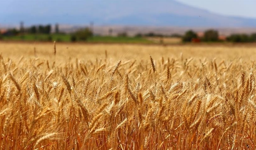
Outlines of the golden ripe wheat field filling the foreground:
[[2,150],[255,150],[256,48],[0,43]]

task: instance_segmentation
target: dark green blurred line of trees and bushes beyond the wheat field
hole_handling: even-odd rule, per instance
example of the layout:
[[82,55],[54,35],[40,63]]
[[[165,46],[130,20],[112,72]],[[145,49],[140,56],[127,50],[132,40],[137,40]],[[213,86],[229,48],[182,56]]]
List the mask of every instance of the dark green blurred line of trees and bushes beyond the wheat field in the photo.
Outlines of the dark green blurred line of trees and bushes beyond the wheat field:
[[[112,29],[110,30],[112,35]],[[52,26],[50,24],[46,25],[33,25],[27,28],[20,28],[17,30],[16,28],[8,29],[8,31],[2,36],[17,36],[17,35],[25,35],[25,34],[46,34],[48,35],[47,41],[52,41],[52,34],[64,34],[59,30],[59,25],[55,24],[55,30],[52,30]],[[86,41],[88,38],[93,36],[93,32],[90,28],[81,28],[73,33],[70,33],[70,41]],[[126,37],[128,34],[126,32],[121,32],[117,35],[118,37]],[[177,37],[182,38],[183,42],[256,42],[256,33],[254,34],[231,34],[230,36],[220,38],[220,35],[217,30],[206,30],[202,36],[198,36],[196,32],[193,30],[188,30],[184,35],[180,34],[157,34],[154,32],[149,32],[146,34],[138,33],[135,37]],[[1,39],[1,34],[0,34]],[[37,39],[38,40],[38,39]]]

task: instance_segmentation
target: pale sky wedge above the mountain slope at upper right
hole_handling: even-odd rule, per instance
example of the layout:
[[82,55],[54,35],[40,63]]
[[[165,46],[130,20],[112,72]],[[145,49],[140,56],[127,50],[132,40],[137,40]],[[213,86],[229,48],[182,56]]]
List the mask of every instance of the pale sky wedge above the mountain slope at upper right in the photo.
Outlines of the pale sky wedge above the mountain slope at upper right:
[[177,0],[197,8],[228,16],[256,18],[256,0]]

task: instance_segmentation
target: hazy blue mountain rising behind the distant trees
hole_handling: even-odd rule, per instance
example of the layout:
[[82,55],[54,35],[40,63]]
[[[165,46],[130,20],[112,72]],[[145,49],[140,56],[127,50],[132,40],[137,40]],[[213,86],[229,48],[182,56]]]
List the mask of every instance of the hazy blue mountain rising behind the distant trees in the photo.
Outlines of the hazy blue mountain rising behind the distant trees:
[[[223,16],[175,0],[1,1],[0,24],[256,27],[256,19]],[[11,6],[11,7],[10,7]]]

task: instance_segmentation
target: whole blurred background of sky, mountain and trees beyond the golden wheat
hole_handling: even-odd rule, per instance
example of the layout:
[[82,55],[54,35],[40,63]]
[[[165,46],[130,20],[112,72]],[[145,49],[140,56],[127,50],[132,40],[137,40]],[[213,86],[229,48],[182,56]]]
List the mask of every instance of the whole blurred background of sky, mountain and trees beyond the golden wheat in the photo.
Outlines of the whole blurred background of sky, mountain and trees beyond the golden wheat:
[[1,0],[0,41],[256,42],[255,0]]

